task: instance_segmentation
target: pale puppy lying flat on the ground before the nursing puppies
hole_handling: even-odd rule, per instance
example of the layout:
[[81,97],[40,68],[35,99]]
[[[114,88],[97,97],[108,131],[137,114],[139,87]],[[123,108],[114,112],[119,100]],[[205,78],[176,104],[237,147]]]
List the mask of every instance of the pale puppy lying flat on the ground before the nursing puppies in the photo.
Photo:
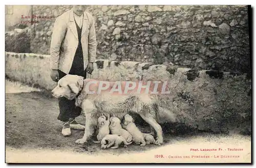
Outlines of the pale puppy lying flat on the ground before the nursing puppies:
[[124,144],[124,147],[127,147],[127,145],[132,144],[132,142],[127,143],[122,136],[116,135],[116,134],[106,135],[101,139],[100,143],[101,143],[102,149],[106,149],[106,148],[116,149],[119,147],[119,145],[122,145],[122,144]]

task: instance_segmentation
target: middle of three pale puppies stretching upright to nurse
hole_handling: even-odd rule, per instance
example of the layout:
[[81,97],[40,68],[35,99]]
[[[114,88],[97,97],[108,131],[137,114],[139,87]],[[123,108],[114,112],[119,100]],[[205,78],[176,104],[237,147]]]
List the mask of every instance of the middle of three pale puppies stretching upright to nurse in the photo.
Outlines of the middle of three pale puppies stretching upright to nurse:
[[132,135],[122,128],[121,121],[117,117],[110,118],[110,132],[122,136],[126,142],[132,141]]

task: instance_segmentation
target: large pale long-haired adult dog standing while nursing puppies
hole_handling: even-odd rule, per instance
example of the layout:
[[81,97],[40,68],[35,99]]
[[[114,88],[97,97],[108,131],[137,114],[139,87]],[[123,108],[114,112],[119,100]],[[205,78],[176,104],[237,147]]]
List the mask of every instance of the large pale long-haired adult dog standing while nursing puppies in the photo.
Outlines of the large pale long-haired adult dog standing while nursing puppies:
[[[105,88],[108,86],[108,89],[99,93],[100,82],[104,82]],[[137,88],[129,90],[127,94],[122,94],[127,82],[129,81],[119,82],[121,92],[117,90],[110,92],[116,87],[116,82],[84,79],[77,75],[66,75],[58,81],[57,86],[52,90],[52,95],[56,98],[76,99],[76,106],[82,108],[82,114],[86,117],[84,135],[81,139],[77,139],[77,144],[86,143],[94,133],[101,113],[105,116],[110,114],[122,120],[123,116],[130,112],[139,114],[145,122],[150,124],[151,131],[156,131],[156,145],[163,144],[162,128],[159,123],[174,121],[174,115],[158,105],[156,94],[145,93],[145,89],[138,94],[135,92]],[[103,85],[102,87],[104,88]]]

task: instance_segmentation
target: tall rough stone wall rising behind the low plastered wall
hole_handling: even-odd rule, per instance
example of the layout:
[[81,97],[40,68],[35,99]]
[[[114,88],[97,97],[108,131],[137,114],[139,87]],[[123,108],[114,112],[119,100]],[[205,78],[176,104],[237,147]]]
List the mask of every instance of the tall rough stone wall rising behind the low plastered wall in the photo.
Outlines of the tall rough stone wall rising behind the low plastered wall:
[[[72,6],[33,6],[57,17]],[[96,20],[97,59],[250,72],[247,6],[89,6]],[[55,19],[28,31],[31,52],[49,54]]]

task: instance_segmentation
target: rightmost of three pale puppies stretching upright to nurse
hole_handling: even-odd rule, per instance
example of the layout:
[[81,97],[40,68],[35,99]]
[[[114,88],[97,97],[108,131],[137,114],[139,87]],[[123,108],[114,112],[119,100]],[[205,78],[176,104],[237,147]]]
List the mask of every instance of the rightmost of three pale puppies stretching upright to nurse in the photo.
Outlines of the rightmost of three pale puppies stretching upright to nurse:
[[124,115],[122,126],[133,136],[133,143],[140,146],[145,146],[146,142],[144,140],[142,132],[134,124],[134,119],[129,114]]

